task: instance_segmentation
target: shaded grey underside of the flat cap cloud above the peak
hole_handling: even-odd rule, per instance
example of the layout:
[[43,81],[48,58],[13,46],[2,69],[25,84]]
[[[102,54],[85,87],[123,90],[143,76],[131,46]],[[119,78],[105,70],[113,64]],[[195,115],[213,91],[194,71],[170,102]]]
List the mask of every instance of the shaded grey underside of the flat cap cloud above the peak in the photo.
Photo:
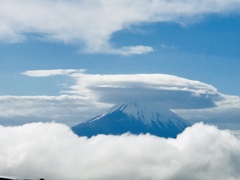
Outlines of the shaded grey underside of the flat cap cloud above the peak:
[[201,109],[214,107],[206,94],[193,96],[192,92],[179,90],[156,90],[152,88],[94,88],[103,102],[156,101],[169,109]]

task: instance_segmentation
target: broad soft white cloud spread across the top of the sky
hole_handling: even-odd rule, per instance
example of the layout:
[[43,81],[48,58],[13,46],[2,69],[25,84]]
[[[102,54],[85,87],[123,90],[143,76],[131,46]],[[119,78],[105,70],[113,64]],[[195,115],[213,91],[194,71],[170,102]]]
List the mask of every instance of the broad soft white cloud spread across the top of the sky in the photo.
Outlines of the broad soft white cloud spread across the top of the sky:
[[188,24],[210,13],[237,12],[238,0],[1,0],[0,41],[40,39],[84,45],[85,52],[144,54],[145,45],[115,49],[113,33],[151,22]]

